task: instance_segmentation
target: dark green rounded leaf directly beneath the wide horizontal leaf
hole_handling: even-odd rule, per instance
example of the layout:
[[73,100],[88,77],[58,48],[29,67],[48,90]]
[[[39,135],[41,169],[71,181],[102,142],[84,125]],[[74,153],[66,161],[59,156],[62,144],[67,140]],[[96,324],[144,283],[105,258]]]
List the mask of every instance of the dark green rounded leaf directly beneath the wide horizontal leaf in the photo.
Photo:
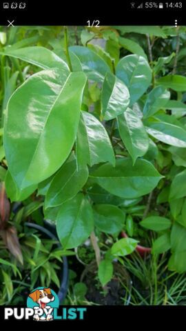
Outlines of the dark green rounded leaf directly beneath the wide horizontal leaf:
[[102,232],[116,233],[123,229],[125,213],[116,205],[94,205],[94,223]]

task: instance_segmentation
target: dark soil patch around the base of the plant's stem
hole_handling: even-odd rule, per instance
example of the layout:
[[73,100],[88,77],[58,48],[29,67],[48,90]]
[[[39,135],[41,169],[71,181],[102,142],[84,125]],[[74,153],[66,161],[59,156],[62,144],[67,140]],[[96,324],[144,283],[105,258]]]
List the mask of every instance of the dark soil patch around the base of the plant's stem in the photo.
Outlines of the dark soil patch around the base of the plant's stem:
[[123,265],[114,263],[114,277],[107,283],[105,290],[101,288],[96,274],[95,262],[88,265],[82,274],[81,281],[88,288],[86,299],[99,305],[123,305],[123,298],[126,296],[125,286],[130,287],[130,277]]

